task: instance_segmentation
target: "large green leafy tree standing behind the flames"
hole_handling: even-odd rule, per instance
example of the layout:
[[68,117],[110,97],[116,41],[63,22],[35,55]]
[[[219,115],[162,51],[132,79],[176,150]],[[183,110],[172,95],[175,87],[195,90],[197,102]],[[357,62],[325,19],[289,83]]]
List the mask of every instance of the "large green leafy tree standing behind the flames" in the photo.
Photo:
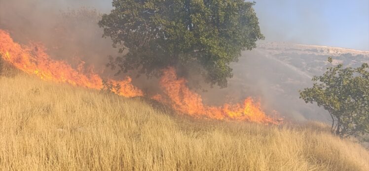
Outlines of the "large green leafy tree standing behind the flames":
[[230,62],[263,39],[255,2],[245,0],[113,0],[99,22],[122,53],[119,72],[139,69],[159,76],[167,66],[195,67],[207,83],[227,85]]

